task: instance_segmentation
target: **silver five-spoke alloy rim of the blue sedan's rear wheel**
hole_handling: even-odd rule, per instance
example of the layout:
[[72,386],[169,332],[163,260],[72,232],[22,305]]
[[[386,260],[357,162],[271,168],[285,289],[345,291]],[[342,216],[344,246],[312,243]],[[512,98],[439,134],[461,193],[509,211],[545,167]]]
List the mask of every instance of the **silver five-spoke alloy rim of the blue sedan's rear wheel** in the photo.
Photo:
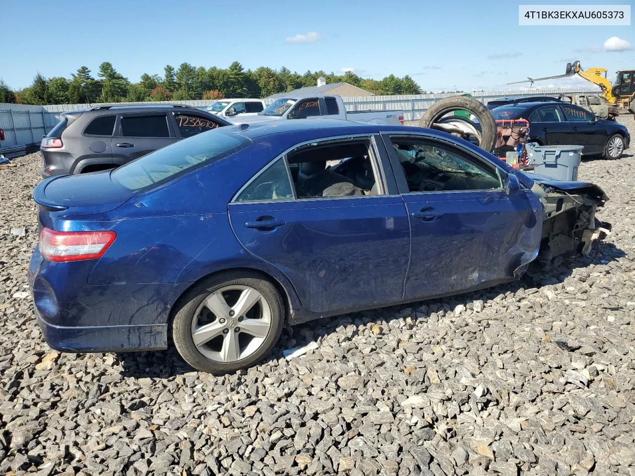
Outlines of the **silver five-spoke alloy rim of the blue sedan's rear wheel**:
[[271,306],[259,291],[224,286],[208,294],[194,313],[192,340],[208,359],[236,362],[262,346],[271,320]]

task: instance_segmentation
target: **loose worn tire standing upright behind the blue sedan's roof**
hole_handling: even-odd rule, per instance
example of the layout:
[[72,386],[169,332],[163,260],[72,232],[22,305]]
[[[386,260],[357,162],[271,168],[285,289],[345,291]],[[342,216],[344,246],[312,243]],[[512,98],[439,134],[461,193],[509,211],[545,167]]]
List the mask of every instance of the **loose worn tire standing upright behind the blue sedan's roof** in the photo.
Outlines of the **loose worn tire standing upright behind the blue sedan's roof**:
[[452,96],[432,104],[432,106],[425,111],[424,117],[422,117],[419,121],[419,127],[441,129],[435,128],[434,124],[443,116],[455,110],[467,110],[476,116],[481,124],[481,140],[479,142],[479,147],[487,150],[488,152],[494,150],[497,136],[494,116],[491,115],[490,110],[487,109],[483,103],[474,98],[469,98],[467,96]]

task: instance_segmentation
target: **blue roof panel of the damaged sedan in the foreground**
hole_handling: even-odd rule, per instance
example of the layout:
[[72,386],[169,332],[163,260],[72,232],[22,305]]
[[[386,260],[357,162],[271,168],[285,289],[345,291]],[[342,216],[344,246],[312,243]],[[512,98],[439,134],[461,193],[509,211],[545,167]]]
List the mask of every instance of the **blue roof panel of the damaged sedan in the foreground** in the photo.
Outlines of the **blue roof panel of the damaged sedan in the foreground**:
[[[230,129],[230,128],[227,128]],[[408,126],[391,126],[388,124],[370,124],[368,122],[347,121],[345,119],[293,119],[242,124],[231,128],[246,138],[255,139],[262,136],[281,133],[306,133],[307,136],[335,136],[372,134],[382,131],[421,131],[421,128]],[[311,138],[307,137],[307,138]]]

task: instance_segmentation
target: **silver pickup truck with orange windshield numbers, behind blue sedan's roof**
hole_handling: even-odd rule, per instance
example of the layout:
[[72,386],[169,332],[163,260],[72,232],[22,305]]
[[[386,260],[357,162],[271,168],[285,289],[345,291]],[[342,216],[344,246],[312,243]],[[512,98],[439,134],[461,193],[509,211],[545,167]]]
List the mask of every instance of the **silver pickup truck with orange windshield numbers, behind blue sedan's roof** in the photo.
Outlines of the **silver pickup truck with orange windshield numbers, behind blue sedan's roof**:
[[338,95],[316,95],[297,97],[293,94],[276,99],[255,116],[228,117],[236,124],[254,124],[281,119],[324,118],[347,119],[348,121],[372,122],[373,124],[403,124],[403,111],[368,110],[347,112]]

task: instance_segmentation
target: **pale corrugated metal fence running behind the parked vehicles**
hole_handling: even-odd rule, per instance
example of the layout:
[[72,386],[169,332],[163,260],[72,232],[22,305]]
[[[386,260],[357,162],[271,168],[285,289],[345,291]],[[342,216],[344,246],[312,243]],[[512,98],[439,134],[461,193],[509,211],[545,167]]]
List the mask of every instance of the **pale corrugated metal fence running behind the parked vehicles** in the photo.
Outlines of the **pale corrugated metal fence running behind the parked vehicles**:
[[[561,93],[599,93],[598,88],[551,88],[551,89],[497,89],[492,91],[472,91],[471,95],[479,101],[486,103],[490,100],[505,96],[518,96],[522,94],[551,95]],[[455,96],[452,93],[402,95],[402,96],[350,96],[344,97],[346,109],[354,110],[403,110],[406,121],[418,121],[435,102]],[[274,100],[265,100],[271,103]],[[174,104],[182,103],[193,107],[208,107],[215,101],[160,101],[140,102],[136,104]],[[20,147],[39,143],[43,135],[46,135],[59,121],[60,113],[70,110],[87,109],[99,104],[56,104],[48,106],[32,106],[24,104],[0,103],[0,129],[4,130],[4,140],[0,141],[0,151],[9,147]]]

